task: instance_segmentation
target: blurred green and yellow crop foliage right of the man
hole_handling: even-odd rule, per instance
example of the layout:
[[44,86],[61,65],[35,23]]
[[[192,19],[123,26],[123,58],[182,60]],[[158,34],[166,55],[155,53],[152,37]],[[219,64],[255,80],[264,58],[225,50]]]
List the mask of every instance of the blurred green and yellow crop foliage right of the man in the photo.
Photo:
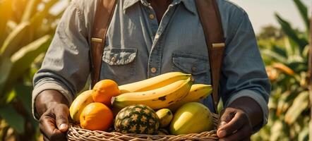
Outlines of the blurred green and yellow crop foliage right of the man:
[[308,93],[310,24],[307,7],[300,0],[293,1],[306,31],[295,30],[291,23],[275,14],[285,36],[278,41],[269,41],[269,47],[259,44],[272,83],[272,93],[268,125],[253,135],[253,140],[308,140],[308,122],[311,119]]

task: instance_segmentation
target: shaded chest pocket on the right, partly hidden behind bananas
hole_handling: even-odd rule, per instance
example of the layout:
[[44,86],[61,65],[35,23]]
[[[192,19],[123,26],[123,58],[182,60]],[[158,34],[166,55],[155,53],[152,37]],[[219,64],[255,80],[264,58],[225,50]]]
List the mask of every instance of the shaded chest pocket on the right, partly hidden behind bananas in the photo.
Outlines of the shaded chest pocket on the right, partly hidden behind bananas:
[[172,64],[172,71],[192,74],[196,83],[211,83],[207,56],[174,53],[172,54]]

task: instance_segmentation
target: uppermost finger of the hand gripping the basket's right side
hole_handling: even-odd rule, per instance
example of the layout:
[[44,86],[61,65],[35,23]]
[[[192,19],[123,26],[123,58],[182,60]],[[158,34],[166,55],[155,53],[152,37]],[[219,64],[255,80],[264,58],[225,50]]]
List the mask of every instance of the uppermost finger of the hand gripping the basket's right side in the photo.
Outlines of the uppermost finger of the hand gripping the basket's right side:
[[235,130],[238,130],[239,128],[241,128],[246,123],[248,123],[248,118],[246,114],[237,112],[234,118],[232,118],[232,120],[229,121],[229,123],[219,128],[218,131],[225,132],[225,133],[222,133],[222,135],[229,135],[229,134],[232,134]]

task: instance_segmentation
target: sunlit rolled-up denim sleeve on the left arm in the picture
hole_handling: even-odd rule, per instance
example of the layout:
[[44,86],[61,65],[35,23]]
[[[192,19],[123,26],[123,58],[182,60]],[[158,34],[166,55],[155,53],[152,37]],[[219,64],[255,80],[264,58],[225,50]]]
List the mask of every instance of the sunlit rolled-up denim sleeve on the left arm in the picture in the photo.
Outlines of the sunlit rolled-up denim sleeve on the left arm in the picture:
[[83,11],[72,1],[59,21],[42,67],[33,78],[32,114],[36,119],[39,117],[35,111],[35,99],[40,92],[57,90],[71,103],[88,79],[88,27],[84,17]]

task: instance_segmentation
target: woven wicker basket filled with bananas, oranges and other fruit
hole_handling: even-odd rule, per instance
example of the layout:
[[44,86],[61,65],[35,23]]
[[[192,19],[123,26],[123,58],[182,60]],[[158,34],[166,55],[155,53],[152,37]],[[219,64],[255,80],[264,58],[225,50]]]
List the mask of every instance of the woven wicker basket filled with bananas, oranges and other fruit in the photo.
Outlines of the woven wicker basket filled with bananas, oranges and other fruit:
[[191,74],[164,73],[117,85],[100,80],[69,108],[68,140],[218,140],[218,115],[200,100],[211,85],[194,84]]

